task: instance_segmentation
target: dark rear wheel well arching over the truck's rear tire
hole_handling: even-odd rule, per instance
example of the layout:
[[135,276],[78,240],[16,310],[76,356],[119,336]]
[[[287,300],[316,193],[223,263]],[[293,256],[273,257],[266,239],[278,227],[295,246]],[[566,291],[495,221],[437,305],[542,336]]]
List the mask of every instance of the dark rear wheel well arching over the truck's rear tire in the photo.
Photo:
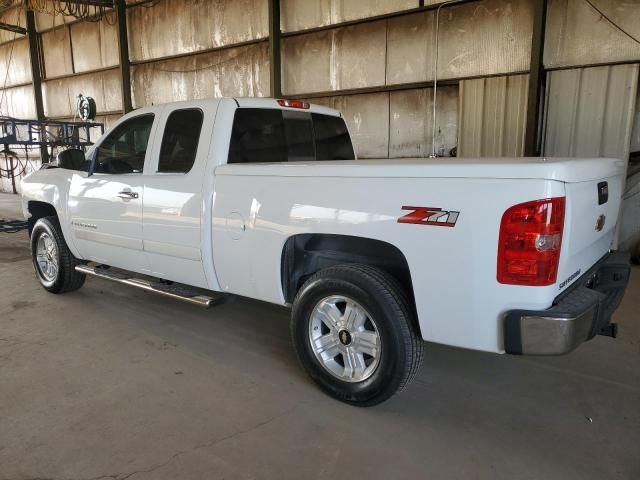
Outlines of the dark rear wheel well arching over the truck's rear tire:
[[[334,265],[364,264],[394,277],[415,310],[409,264],[394,245],[350,235],[300,234],[287,239],[282,250],[282,291],[292,303],[302,284],[314,273]],[[415,311],[414,311],[415,313]]]

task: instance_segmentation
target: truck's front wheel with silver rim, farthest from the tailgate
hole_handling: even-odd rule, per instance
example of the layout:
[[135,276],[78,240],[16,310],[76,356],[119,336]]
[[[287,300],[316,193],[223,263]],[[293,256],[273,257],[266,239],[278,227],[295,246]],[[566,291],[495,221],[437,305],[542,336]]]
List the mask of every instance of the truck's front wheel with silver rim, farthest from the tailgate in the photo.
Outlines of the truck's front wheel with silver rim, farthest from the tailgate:
[[73,256],[56,217],[39,219],[31,232],[31,257],[40,284],[51,293],[78,290],[86,275],[76,272],[83,263]]

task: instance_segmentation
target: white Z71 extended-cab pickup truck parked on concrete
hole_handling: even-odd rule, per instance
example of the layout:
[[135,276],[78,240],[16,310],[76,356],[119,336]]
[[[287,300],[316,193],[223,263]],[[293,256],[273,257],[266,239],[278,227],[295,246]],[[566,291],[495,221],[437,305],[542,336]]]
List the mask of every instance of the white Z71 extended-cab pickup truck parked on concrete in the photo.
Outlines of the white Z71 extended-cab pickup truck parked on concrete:
[[22,182],[44,288],[291,305],[301,363],[352,404],[403,388],[423,340],[553,355],[615,336],[619,160],[361,161],[337,111],[222,98],[136,110],[57,167]]

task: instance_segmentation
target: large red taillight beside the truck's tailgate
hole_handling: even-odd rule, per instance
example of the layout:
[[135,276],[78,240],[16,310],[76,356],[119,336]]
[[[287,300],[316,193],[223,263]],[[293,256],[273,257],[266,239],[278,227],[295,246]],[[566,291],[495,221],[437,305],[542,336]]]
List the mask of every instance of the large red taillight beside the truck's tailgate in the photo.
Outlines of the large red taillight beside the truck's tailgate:
[[558,276],[564,197],[521,203],[500,222],[498,282],[510,285],[552,285]]

